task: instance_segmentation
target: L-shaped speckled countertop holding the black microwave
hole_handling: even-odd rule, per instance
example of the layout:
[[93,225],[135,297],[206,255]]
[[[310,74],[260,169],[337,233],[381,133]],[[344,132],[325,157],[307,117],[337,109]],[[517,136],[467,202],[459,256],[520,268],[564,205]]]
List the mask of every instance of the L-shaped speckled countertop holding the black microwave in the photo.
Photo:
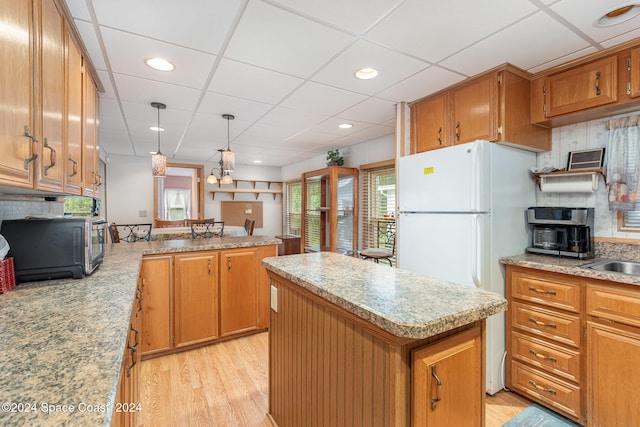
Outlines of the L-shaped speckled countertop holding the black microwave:
[[278,243],[249,236],[111,244],[90,276],[1,294],[0,425],[110,424],[142,255]]

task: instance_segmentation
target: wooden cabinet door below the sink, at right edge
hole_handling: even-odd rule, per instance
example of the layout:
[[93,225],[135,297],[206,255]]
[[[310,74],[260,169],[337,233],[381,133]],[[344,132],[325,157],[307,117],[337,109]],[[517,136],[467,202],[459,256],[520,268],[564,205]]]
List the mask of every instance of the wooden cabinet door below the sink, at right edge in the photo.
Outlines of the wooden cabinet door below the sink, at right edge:
[[588,425],[638,425],[638,360],[640,330],[587,322]]

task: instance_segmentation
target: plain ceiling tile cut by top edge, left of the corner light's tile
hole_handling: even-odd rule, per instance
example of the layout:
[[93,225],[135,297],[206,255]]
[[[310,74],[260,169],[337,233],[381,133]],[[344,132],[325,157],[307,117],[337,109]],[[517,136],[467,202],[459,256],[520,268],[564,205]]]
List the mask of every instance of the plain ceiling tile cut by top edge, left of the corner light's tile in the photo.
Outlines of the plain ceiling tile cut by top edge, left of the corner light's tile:
[[537,9],[529,0],[408,0],[365,36],[392,49],[438,62]]

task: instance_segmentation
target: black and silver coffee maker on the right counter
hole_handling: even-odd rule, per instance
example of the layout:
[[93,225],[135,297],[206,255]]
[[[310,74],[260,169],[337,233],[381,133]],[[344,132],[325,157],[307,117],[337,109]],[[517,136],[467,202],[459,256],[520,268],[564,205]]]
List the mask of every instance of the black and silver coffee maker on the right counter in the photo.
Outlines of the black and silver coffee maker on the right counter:
[[593,208],[531,207],[529,253],[588,259],[593,250]]

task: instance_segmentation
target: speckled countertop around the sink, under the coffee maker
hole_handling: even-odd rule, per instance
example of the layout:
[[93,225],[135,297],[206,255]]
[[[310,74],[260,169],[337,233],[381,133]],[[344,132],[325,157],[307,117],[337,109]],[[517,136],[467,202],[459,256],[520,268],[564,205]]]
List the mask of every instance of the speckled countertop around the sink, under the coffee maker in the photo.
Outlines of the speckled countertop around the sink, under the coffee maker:
[[[636,249],[637,251],[637,249]],[[628,260],[630,257],[627,254]],[[618,259],[613,256],[596,257],[592,259],[577,260],[573,258],[560,258],[554,256],[524,254],[504,257],[500,262],[505,265],[515,265],[519,267],[533,268],[536,270],[550,271],[554,273],[570,274],[572,276],[587,277],[590,279],[608,280],[617,283],[627,283],[630,285],[640,285],[640,277],[630,276],[615,272],[597,271],[590,268],[581,268],[586,264],[603,261],[605,259]]]

